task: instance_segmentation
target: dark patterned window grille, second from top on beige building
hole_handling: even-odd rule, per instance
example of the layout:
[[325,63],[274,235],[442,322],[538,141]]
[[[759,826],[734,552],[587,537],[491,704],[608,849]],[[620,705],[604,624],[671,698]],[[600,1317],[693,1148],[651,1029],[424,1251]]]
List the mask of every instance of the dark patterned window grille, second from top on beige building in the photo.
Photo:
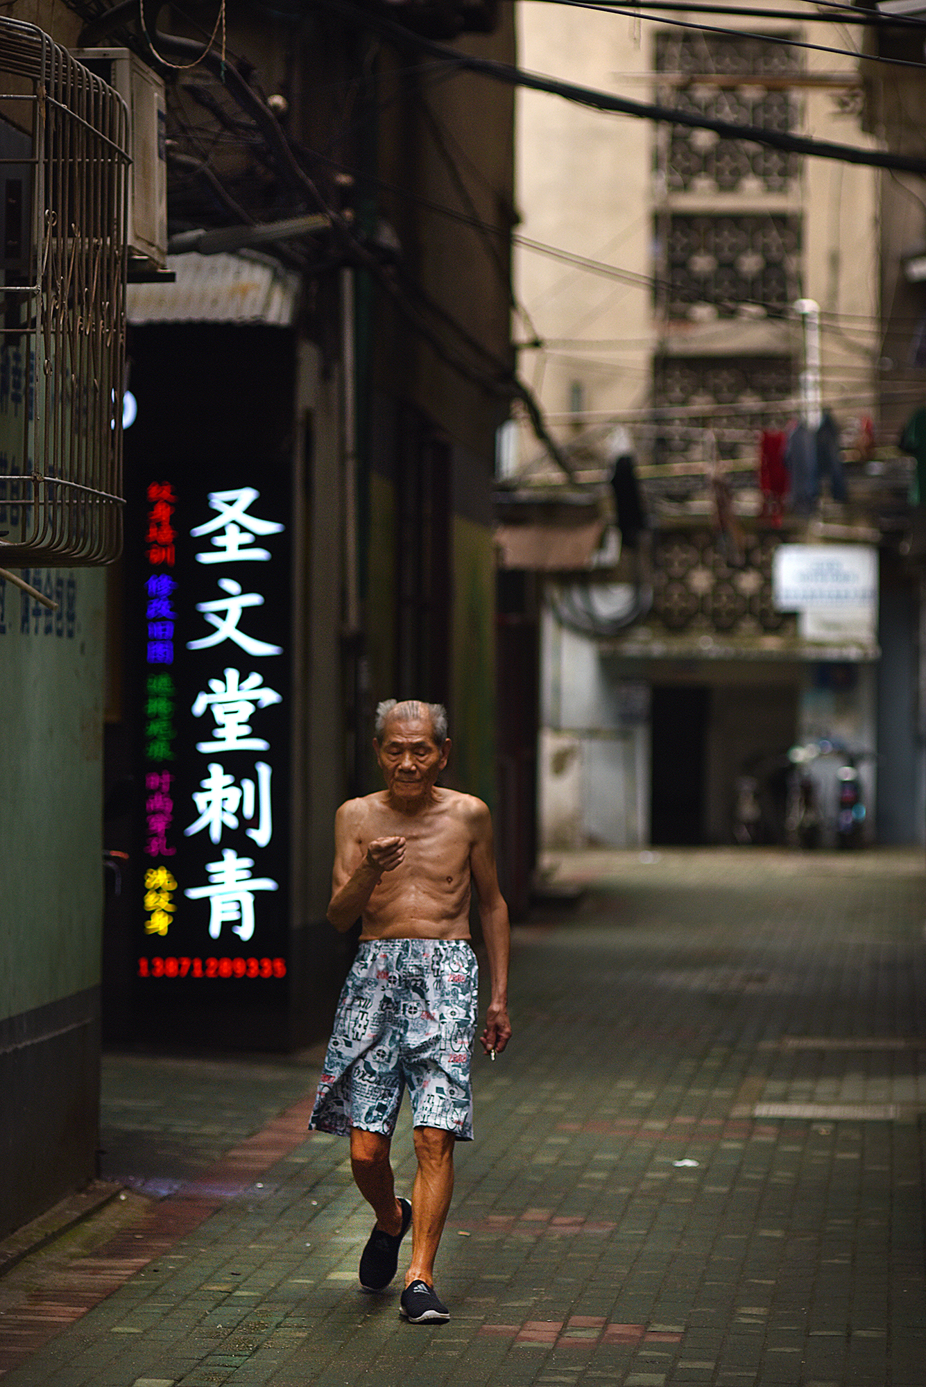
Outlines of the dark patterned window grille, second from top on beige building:
[[764,316],[800,297],[800,216],[663,214],[657,225],[668,318],[736,318],[743,305]]

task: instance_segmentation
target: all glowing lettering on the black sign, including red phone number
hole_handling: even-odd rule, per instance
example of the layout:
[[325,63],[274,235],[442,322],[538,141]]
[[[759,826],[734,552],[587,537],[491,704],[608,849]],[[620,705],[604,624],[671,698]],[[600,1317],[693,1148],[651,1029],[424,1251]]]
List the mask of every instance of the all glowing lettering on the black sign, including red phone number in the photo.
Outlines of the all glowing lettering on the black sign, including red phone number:
[[[139,975],[281,978],[286,527],[255,487],[197,501],[158,481],[147,499],[144,928],[176,957],[140,958]],[[207,940],[265,957],[204,968]]]

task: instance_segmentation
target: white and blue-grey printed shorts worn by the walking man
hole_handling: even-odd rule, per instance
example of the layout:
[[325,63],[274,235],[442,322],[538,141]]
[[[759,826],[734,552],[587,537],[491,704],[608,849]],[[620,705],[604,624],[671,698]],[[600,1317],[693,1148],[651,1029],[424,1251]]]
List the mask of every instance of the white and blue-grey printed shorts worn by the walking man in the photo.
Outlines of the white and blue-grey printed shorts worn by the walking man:
[[464,939],[360,940],[309,1128],[392,1136],[408,1085],[414,1126],[471,1142],[477,982]]

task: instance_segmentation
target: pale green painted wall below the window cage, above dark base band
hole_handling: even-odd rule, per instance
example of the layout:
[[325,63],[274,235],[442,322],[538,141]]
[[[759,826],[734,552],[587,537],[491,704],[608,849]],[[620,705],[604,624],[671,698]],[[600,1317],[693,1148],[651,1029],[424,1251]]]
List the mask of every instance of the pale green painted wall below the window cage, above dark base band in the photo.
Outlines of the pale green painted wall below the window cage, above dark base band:
[[105,574],[0,580],[0,1019],[100,981]]

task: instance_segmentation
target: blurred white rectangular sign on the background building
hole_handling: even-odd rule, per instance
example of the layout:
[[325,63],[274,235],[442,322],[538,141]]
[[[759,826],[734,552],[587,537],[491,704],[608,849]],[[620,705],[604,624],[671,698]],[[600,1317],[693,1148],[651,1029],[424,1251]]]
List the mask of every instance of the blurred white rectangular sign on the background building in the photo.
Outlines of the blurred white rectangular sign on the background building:
[[866,544],[782,544],[772,560],[779,612],[877,606],[877,549]]

